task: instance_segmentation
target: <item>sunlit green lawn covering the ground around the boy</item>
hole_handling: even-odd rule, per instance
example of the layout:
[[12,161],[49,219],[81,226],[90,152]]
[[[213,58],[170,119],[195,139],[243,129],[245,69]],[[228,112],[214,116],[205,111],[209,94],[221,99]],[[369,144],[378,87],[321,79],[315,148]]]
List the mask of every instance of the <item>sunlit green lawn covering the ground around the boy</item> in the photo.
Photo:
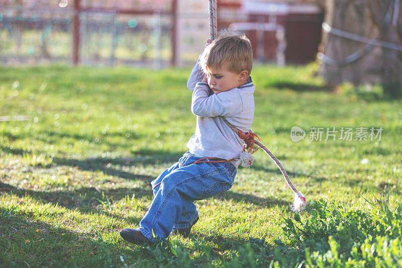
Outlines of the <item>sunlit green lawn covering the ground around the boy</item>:
[[[196,202],[200,220],[188,239],[148,248],[124,242],[119,231],[138,227],[152,201],[149,183],[186,151],[194,132],[189,71],[0,67],[0,116],[28,117],[0,122],[0,266],[285,267],[290,256],[291,265],[320,266],[320,256],[352,250],[335,231],[356,213],[368,219],[361,226],[402,226],[395,216],[402,101],[322,91],[315,65],[256,66],[253,131],[310,202],[300,213],[304,224],[290,212],[292,193],[279,170],[259,150],[230,191]],[[292,126],[306,131],[304,140],[291,141]],[[380,141],[344,141],[340,133],[336,141],[324,141],[325,134],[310,141],[313,127],[383,132]],[[376,199],[365,200],[384,191],[389,199],[377,199],[389,207],[389,215],[381,210],[387,220],[374,216]],[[317,215],[321,229],[310,223]],[[348,237],[365,246],[366,237],[395,239],[385,229]]]

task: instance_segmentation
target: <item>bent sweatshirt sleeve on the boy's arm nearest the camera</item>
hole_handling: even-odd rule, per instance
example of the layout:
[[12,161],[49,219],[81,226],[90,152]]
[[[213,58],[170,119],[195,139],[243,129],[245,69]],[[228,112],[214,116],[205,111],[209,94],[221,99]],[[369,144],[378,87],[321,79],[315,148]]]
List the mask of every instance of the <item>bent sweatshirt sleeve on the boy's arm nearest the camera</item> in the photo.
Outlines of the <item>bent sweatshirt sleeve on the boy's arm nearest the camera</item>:
[[220,94],[209,94],[208,83],[198,82],[191,98],[191,112],[200,117],[233,116],[242,111],[237,88]]

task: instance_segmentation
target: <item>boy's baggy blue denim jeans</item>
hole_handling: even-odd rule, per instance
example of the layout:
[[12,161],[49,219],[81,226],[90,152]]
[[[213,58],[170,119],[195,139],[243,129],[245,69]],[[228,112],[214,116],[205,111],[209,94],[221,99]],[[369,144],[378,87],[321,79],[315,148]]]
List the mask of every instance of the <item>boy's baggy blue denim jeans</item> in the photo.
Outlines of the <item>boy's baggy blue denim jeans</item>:
[[237,172],[233,164],[194,163],[201,158],[186,152],[151,182],[154,200],[139,228],[151,242],[155,241],[152,232],[165,239],[173,228],[190,227],[198,216],[195,200],[207,199],[232,188]]

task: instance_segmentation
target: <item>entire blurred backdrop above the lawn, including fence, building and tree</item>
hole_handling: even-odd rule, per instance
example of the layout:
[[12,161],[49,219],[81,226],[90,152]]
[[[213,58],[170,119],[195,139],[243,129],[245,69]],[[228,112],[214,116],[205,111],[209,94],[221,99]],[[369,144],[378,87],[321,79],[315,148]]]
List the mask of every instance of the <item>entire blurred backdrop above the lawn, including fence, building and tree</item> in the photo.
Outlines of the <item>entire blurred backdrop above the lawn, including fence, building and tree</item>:
[[[328,86],[402,84],[400,0],[218,0],[218,29],[244,32],[255,62],[319,63]],[[0,63],[191,66],[207,0],[0,0]]]

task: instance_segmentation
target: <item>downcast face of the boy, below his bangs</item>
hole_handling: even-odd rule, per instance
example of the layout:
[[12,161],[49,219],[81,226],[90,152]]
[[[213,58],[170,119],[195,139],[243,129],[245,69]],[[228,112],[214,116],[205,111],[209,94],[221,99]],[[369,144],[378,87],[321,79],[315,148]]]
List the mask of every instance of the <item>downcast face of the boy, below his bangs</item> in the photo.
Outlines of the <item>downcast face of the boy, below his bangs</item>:
[[215,94],[219,94],[243,85],[247,78],[247,71],[245,71],[246,75],[244,75],[243,72],[235,73],[233,71],[229,71],[225,68],[225,65],[221,66],[220,68],[210,68],[209,72],[207,73],[207,81],[211,90]]

